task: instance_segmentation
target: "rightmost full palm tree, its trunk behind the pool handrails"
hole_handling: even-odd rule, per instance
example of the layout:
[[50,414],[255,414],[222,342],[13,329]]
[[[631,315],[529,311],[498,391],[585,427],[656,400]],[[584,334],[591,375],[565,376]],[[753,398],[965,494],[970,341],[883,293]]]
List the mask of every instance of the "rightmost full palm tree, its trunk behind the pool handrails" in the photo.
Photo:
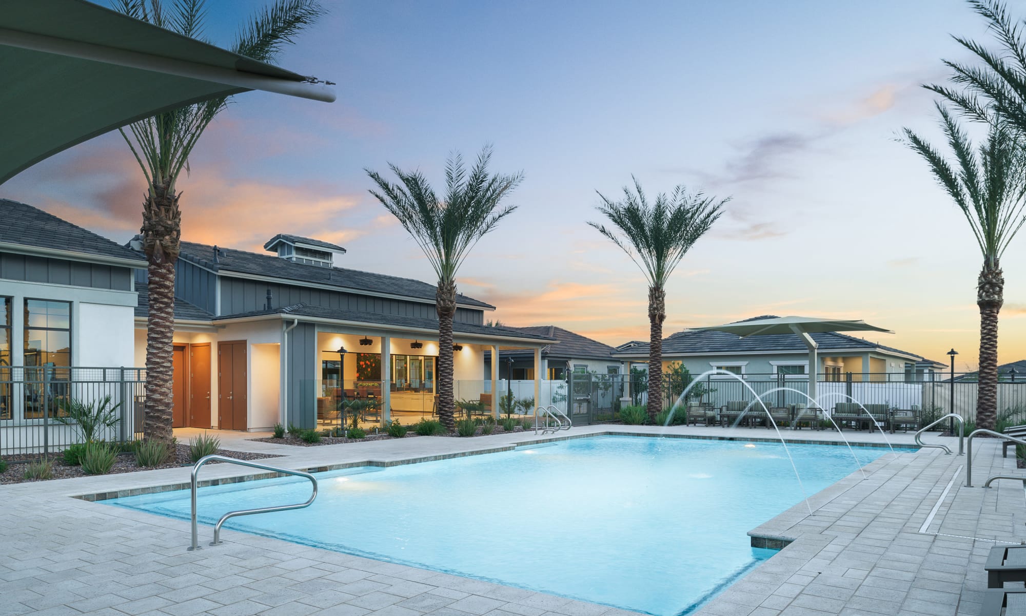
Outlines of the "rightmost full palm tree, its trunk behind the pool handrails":
[[973,229],[983,254],[977,281],[980,307],[980,373],[977,426],[994,429],[997,417],[997,315],[1004,303],[1001,255],[1023,223],[1026,204],[1026,152],[1021,133],[1000,119],[990,118],[987,141],[974,151],[969,136],[943,106],[937,105],[941,126],[955,157],[944,155],[905,128],[909,147],[925,159],[937,181]]

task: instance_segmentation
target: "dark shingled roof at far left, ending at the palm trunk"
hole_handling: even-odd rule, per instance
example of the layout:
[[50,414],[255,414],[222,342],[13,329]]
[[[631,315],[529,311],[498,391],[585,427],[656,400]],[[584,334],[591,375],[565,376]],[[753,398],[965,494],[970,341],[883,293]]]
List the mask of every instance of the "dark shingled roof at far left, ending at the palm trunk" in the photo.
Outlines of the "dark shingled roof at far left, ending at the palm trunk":
[[9,199],[0,199],[0,244],[58,251],[75,260],[101,257],[134,261],[139,267],[146,267],[146,260],[134,251],[38,207]]

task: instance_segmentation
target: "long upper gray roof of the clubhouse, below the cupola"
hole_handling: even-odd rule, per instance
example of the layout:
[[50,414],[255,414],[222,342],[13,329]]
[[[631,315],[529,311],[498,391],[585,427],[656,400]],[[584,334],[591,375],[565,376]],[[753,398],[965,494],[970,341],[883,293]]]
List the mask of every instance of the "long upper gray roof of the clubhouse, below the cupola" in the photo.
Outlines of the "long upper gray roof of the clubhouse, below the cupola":
[[[236,251],[219,246],[218,261],[213,261],[213,246],[209,244],[182,242],[182,258],[201,265],[206,269],[230,274],[238,272],[256,276],[268,276],[295,280],[299,283],[308,282],[337,286],[340,291],[363,291],[369,294],[389,294],[418,300],[435,301],[435,285],[386,274],[374,274],[341,267],[320,267],[295,263],[275,257],[246,251]],[[456,296],[458,304],[476,308],[494,309],[495,306],[465,295]]]

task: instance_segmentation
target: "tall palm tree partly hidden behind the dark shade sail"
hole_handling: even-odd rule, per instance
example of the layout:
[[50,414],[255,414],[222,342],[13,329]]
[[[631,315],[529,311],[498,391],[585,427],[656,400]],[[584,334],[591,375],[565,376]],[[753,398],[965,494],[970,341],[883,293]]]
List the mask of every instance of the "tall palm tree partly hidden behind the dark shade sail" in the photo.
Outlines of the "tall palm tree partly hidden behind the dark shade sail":
[[[191,38],[202,34],[202,0],[174,0],[169,9],[161,0],[121,0],[123,13]],[[317,0],[276,0],[242,29],[232,51],[272,63],[284,43],[323,13]],[[174,379],[174,262],[182,237],[181,193],[175,188],[189,155],[203,130],[227,109],[228,98],[189,105],[133,122],[121,136],[146,177],[143,201],[143,251],[149,262],[150,315],[146,337],[147,438],[171,442],[171,387]],[[129,137],[130,133],[130,137]]]

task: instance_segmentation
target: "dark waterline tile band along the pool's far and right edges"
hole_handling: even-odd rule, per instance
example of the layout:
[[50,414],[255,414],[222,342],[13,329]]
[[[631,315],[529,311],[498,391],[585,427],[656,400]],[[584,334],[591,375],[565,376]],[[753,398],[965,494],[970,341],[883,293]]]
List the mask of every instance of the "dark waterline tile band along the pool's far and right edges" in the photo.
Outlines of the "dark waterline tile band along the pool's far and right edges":
[[[343,470],[343,469],[347,469],[347,468],[362,468],[362,467],[391,468],[393,466],[405,466],[405,465],[408,465],[408,464],[421,464],[421,463],[424,463],[424,462],[436,462],[436,461],[439,461],[439,460],[452,460],[452,459],[456,459],[456,458],[466,458],[466,457],[469,457],[469,456],[481,456],[481,455],[485,455],[485,454],[498,454],[498,453],[502,453],[502,452],[515,451],[517,449],[532,447],[532,446],[537,446],[537,445],[543,445],[543,444],[547,444],[547,442],[560,442],[560,441],[563,441],[563,440],[576,440],[576,439],[579,439],[579,438],[597,438],[597,437],[601,437],[601,436],[634,436],[634,437],[643,437],[643,438],[689,438],[689,439],[695,439],[695,440],[744,440],[746,442],[780,442],[781,441],[780,438],[759,437],[759,436],[756,436],[756,437],[742,437],[742,436],[713,436],[713,435],[707,435],[707,434],[659,434],[659,433],[650,433],[650,432],[629,432],[629,431],[616,430],[616,431],[589,432],[589,433],[585,433],[585,434],[560,434],[560,435],[553,435],[553,436],[548,436],[548,437],[543,436],[541,438],[537,438],[537,439],[534,439],[534,440],[524,441],[524,442],[517,442],[517,444],[512,444],[512,445],[492,446],[492,447],[488,447],[488,448],[485,448],[485,449],[469,450],[469,451],[464,451],[464,452],[450,452],[450,453],[446,453],[446,454],[436,454],[436,455],[431,455],[431,456],[420,456],[420,457],[416,457],[416,458],[403,458],[403,459],[399,459],[399,460],[363,460],[363,461],[355,461],[355,462],[341,462],[341,463],[338,463],[338,464],[322,464],[322,465],[317,465],[317,466],[310,466],[310,467],[307,467],[307,468],[297,468],[297,469],[293,469],[293,470],[303,470],[305,472],[316,473],[316,472],[328,472],[328,471],[331,471],[331,470]],[[803,439],[803,438],[800,438],[800,439],[799,438],[784,438],[784,441],[788,442],[788,444],[794,444],[794,445],[825,445],[825,446],[842,446],[842,447],[843,446],[849,446],[849,444],[844,442],[843,440],[808,440],[808,439]],[[851,447],[869,447],[869,448],[880,448],[880,449],[893,449],[893,450],[902,450],[902,451],[906,451],[906,452],[915,452],[915,451],[918,451],[920,449],[917,446],[908,446],[908,445],[892,446],[892,445],[889,445],[889,444],[877,444],[877,442],[855,442],[855,444],[851,444]],[[870,465],[874,464],[877,461],[878,461],[878,459],[874,460],[873,462],[870,462],[866,466],[870,466]],[[230,463],[224,463],[224,464],[230,465]],[[865,470],[865,467],[863,467],[863,470]],[[853,473],[853,474],[855,474],[855,473]],[[259,472],[259,473],[251,473],[250,472],[250,473],[232,475],[232,476],[227,476],[227,477],[213,477],[213,478],[209,478],[209,479],[200,479],[200,480],[198,480],[196,483],[196,486],[197,486],[197,488],[207,488],[207,487],[211,487],[211,486],[227,486],[227,485],[232,485],[232,484],[241,484],[241,483],[244,483],[244,482],[254,482],[254,480],[260,480],[260,479],[273,479],[273,478],[285,477],[285,476],[291,476],[291,475],[289,475],[287,473],[283,473],[283,472],[277,472],[277,471],[267,471],[267,472]],[[821,490],[820,492],[817,492],[814,495],[810,495],[808,498],[812,498],[812,496],[816,496],[818,494],[822,494],[823,492],[825,492],[825,491],[833,488],[834,486],[836,486],[840,482],[843,482],[844,479],[849,478],[849,476],[851,476],[851,475],[847,475],[845,477],[842,477],[841,479],[838,479],[836,483],[831,484],[827,488],[824,488],[823,490]],[[84,500],[84,501],[87,501],[87,502],[100,502],[100,501],[105,501],[105,500],[114,500],[114,499],[118,499],[118,498],[125,498],[125,497],[129,497],[129,496],[140,496],[140,495],[143,495],[143,494],[160,494],[160,493],[163,493],[163,492],[177,492],[177,491],[182,491],[182,490],[191,490],[191,489],[192,489],[192,483],[191,482],[175,482],[175,483],[172,483],[172,484],[159,484],[159,485],[154,485],[154,486],[145,486],[145,487],[142,487],[142,488],[129,488],[129,489],[125,489],[125,490],[93,492],[93,493],[85,493],[85,494],[73,494],[73,495],[70,495],[70,497],[71,498],[80,499],[80,500]],[[804,502],[804,501],[802,501],[802,502]],[[801,503],[799,502],[798,505],[800,505],[800,504]],[[797,505],[795,505],[795,506],[797,506]],[[793,507],[789,508],[787,511],[790,511],[792,508]],[[784,513],[787,513],[787,511],[785,511]],[[784,513],[782,513],[781,515],[783,515]],[[763,524],[767,524],[767,523],[763,523]],[[760,525],[760,527],[762,525]],[[760,528],[760,527],[756,527],[756,528]],[[766,547],[766,548],[770,548],[770,549],[781,549],[784,546],[786,546],[788,543],[790,543],[791,541],[794,540],[793,537],[792,538],[788,538],[788,537],[778,537],[778,536],[768,536],[768,535],[754,536],[754,535],[752,535],[751,531],[749,532],[749,536],[752,537],[752,547]],[[756,544],[757,542],[759,543],[758,545]],[[779,547],[773,547],[773,546],[771,546],[771,544],[779,546]]]

